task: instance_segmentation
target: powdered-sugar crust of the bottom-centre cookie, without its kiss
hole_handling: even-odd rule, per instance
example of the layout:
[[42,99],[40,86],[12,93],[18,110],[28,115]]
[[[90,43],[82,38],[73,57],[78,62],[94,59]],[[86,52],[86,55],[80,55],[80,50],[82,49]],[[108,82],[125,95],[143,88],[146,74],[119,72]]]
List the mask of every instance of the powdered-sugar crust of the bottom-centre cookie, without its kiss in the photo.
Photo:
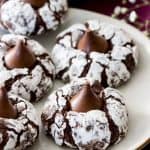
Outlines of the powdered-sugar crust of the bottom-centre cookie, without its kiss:
[[[70,110],[69,101],[89,80],[80,78],[53,92],[45,103],[42,122],[47,134],[56,144],[78,149],[106,149],[111,142],[108,114],[104,110],[78,113]],[[92,83],[90,83],[92,86]],[[119,142],[127,133],[128,116],[121,94],[112,88],[104,89],[104,101],[109,117],[119,129]],[[102,93],[100,93],[102,95]]]

